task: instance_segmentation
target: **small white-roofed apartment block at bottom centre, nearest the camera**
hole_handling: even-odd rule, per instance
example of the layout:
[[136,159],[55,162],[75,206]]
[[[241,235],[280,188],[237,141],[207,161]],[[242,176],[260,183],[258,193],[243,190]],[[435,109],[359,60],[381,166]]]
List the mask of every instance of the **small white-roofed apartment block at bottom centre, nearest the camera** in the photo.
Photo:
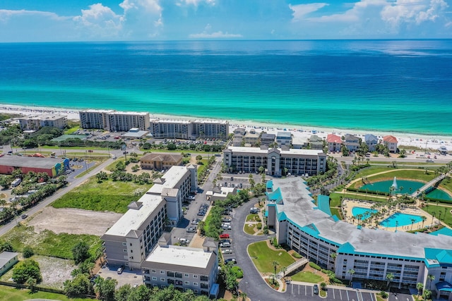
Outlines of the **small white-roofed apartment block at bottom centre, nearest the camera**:
[[[211,247],[208,247],[210,243]],[[157,288],[174,285],[195,294],[218,297],[218,250],[209,239],[203,249],[157,245],[143,262],[143,282]]]

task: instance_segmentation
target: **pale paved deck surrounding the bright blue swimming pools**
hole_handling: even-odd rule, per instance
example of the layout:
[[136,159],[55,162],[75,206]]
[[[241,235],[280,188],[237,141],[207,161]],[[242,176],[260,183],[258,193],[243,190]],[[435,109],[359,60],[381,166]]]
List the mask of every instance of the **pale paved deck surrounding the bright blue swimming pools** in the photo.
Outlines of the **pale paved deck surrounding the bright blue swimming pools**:
[[[371,209],[372,205],[377,204],[377,202],[369,202],[369,201],[357,201],[355,199],[344,199],[342,204],[343,212],[346,211],[345,214],[345,221],[347,223],[351,223],[353,225],[358,225],[358,219],[353,219],[352,209],[354,207],[361,207],[361,208],[369,208]],[[379,222],[387,219],[389,216],[395,214],[396,212],[400,212],[403,214],[412,214],[417,216],[425,216],[427,219],[424,221],[424,228],[430,228],[432,225],[439,224],[439,220],[434,218],[432,215],[428,214],[425,211],[422,211],[421,209],[415,208],[413,206],[406,207],[406,208],[398,208],[391,210],[391,214],[384,214],[380,219]],[[355,220],[355,222],[353,222]],[[384,227],[381,225],[375,226],[374,223],[372,223],[372,226],[367,226],[367,228],[379,228],[386,231],[410,231],[415,229],[421,229],[422,228],[422,221],[419,223],[413,223],[413,225],[406,225],[406,226],[398,226],[398,227]]]

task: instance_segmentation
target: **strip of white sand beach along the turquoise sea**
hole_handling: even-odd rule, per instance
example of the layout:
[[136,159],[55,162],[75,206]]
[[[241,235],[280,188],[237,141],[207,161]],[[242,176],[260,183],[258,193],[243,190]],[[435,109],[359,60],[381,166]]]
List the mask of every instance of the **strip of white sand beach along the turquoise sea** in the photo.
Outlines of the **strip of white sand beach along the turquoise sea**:
[[[40,113],[59,113],[66,115],[68,120],[80,120],[78,111],[81,109],[69,109],[61,107],[44,107],[44,106],[17,106],[10,104],[0,104],[0,113],[18,113],[25,116],[40,114]],[[150,119],[168,119],[168,120],[227,120],[220,118],[204,118],[196,116],[177,116],[169,114],[160,114],[149,112]],[[440,146],[444,146],[448,151],[452,151],[452,135],[440,135],[440,134],[417,134],[417,133],[399,133],[399,132],[388,132],[379,130],[361,130],[361,129],[340,129],[340,128],[327,128],[318,127],[310,125],[290,125],[285,123],[266,123],[261,121],[239,121],[239,120],[227,120],[230,123],[230,133],[233,132],[234,128],[241,127],[249,130],[255,128],[258,130],[265,130],[267,133],[276,133],[278,131],[290,131],[294,137],[299,137],[300,139],[307,139],[311,135],[318,135],[321,138],[326,138],[328,134],[335,134],[342,136],[345,134],[356,135],[357,137],[362,137],[364,135],[373,134],[379,138],[385,135],[393,135],[398,139],[399,146],[405,147],[418,147],[420,149],[438,149]]]

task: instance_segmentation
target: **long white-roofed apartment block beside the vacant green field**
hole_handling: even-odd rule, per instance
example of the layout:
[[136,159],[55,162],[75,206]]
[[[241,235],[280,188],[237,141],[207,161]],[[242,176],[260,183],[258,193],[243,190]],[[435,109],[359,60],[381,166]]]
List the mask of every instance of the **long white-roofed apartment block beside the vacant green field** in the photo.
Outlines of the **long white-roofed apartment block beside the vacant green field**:
[[196,166],[173,166],[102,235],[107,261],[140,269],[165,225],[182,219],[182,200],[196,190]]

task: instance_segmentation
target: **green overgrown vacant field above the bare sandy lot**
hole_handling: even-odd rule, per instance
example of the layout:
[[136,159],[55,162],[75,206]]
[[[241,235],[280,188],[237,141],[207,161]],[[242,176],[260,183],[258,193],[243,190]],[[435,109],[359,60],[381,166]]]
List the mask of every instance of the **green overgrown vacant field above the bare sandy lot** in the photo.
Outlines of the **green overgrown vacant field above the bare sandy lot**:
[[53,202],[52,207],[125,213],[127,205],[137,201],[150,187],[152,184],[139,185],[113,180],[97,183],[97,178],[93,176]]

